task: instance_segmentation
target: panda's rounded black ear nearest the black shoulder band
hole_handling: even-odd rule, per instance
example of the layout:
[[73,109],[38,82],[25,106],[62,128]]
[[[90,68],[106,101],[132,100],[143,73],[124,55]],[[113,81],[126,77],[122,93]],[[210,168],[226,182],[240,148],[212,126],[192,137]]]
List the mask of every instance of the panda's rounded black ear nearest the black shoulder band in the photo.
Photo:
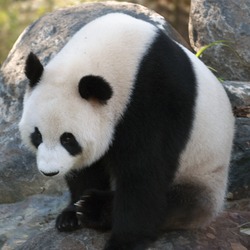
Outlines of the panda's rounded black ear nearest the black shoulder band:
[[111,86],[101,76],[87,75],[82,77],[78,90],[82,98],[86,100],[96,99],[102,104],[105,104],[113,95]]

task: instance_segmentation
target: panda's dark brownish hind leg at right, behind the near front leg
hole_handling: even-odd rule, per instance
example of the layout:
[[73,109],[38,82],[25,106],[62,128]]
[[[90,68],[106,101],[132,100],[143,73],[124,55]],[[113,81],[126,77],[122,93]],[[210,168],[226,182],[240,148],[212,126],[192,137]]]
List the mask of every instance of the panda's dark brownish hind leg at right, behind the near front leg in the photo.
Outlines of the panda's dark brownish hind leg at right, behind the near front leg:
[[193,229],[208,225],[223,203],[205,185],[181,183],[167,192],[167,217],[164,230]]

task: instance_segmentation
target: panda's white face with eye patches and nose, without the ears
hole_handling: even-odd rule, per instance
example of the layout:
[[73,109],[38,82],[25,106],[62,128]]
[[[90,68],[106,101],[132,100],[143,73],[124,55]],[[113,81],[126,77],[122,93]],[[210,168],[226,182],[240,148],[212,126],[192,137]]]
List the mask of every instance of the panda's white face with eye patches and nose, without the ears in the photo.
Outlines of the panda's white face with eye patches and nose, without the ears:
[[79,94],[58,96],[58,90],[42,82],[26,97],[19,124],[25,144],[37,153],[38,169],[55,175],[90,165],[112,139],[114,123],[106,116],[108,107]]

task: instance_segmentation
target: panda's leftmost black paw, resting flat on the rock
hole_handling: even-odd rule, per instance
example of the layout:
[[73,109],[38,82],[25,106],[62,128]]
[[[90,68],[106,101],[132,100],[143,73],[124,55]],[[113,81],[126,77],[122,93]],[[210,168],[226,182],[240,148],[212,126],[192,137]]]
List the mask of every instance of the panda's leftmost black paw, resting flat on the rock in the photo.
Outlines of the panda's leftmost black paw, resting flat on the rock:
[[56,228],[61,232],[69,232],[81,228],[75,209],[72,207],[64,209],[62,213],[57,216]]

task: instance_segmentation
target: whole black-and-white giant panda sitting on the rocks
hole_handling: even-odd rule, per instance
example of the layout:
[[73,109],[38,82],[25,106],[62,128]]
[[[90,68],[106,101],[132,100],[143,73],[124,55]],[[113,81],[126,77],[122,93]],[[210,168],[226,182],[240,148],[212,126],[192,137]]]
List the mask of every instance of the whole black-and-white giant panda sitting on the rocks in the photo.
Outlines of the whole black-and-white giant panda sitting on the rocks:
[[146,249],[223,207],[234,118],[217,78],[149,22],[109,13],[44,67],[26,60],[19,124],[45,176],[71,194],[56,228],[112,230],[104,249]]

